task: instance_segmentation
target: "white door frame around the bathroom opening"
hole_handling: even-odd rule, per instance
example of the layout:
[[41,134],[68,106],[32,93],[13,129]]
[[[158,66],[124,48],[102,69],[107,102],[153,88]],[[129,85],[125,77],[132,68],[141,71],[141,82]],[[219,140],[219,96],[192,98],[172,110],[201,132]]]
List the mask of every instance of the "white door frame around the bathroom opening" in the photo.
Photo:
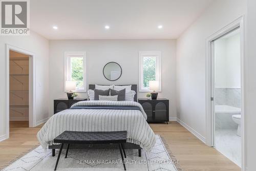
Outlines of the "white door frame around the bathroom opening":
[[211,90],[211,74],[212,74],[212,67],[211,67],[211,63],[212,63],[212,44],[211,42],[218,39],[219,37],[227,34],[228,32],[232,31],[233,29],[240,27],[240,42],[241,42],[241,139],[242,139],[242,163],[241,163],[241,170],[244,171],[245,170],[245,132],[244,132],[244,125],[245,125],[245,121],[244,121],[244,37],[245,37],[245,32],[244,32],[244,16],[241,16],[239,18],[237,18],[236,20],[234,20],[232,23],[230,23],[229,25],[227,25],[226,27],[222,28],[221,30],[219,30],[218,32],[216,32],[215,34],[209,36],[206,39],[206,63],[205,63],[205,67],[206,67],[206,83],[205,83],[205,98],[206,98],[206,103],[205,103],[205,113],[206,113],[206,138],[205,138],[205,143],[208,146],[213,146],[214,145],[214,135],[213,135],[213,131],[214,131],[214,117],[213,117],[213,113],[212,113],[212,100],[211,100],[211,94],[212,94],[212,90]]

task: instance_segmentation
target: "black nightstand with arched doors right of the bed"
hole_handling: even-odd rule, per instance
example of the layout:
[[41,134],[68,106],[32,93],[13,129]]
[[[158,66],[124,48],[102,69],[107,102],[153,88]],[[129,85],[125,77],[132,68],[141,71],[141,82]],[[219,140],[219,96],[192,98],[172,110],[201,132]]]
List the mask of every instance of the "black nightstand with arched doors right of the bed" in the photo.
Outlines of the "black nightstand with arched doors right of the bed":
[[138,99],[147,115],[147,122],[169,121],[169,100],[168,99]]

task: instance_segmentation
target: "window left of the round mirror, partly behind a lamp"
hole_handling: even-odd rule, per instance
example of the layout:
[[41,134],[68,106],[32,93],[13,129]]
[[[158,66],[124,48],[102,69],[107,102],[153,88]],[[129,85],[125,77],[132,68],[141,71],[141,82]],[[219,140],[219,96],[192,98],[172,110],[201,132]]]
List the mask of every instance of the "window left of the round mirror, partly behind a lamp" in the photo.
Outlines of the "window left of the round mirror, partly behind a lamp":
[[86,65],[86,52],[65,52],[65,92],[66,81],[76,81],[75,92],[86,91]]

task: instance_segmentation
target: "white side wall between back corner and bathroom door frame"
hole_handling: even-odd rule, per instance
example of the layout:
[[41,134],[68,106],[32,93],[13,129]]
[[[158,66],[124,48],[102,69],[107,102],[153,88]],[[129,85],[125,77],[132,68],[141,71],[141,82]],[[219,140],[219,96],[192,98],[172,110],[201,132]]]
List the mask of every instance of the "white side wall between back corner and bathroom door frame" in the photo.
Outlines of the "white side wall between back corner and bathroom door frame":
[[202,137],[206,38],[244,15],[246,1],[216,0],[177,40],[177,117]]

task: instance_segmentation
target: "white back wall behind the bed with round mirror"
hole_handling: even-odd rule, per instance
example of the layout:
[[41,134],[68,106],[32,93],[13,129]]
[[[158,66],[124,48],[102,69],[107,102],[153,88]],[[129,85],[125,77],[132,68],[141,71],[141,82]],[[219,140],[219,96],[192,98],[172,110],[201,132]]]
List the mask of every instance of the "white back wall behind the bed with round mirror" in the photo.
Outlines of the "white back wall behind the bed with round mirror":
[[[159,98],[170,100],[170,117],[176,117],[176,40],[50,40],[50,110],[53,99],[66,98],[64,92],[64,52],[87,52],[87,77],[89,83],[131,84],[139,83],[139,51],[162,52],[162,92]],[[122,68],[122,76],[108,81],[102,74],[106,63],[114,61]],[[78,93],[87,97],[87,93]],[[138,93],[145,98],[146,93]]]

